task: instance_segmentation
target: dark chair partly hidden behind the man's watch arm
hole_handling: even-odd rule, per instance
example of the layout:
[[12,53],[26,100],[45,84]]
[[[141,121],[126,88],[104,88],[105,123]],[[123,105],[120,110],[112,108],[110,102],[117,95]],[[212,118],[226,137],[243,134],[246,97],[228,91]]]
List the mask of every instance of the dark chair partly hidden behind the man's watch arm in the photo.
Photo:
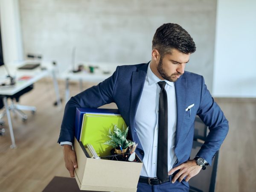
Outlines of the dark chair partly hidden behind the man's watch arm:
[[[195,119],[195,132],[190,157],[194,158],[203,145],[208,134],[207,126],[197,116]],[[201,170],[198,175],[189,180],[189,192],[214,192],[216,184],[218,168],[218,152],[212,160],[212,166],[207,166],[205,170]]]

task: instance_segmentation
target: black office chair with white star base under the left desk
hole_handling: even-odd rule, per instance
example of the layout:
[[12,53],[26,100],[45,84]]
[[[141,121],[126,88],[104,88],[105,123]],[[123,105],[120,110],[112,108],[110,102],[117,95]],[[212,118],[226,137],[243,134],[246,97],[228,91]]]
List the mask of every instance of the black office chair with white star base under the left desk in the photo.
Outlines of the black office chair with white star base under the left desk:
[[[20,96],[22,96],[25,93],[28,93],[29,91],[31,91],[33,89],[34,85],[30,85],[26,88],[24,88],[23,90],[20,90],[19,92],[15,93],[12,96],[7,96],[7,99],[11,99],[11,105],[9,105],[9,110],[12,111],[14,114],[18,114],[23,122],[25,122],[28,118],[28,116],[26,115],[26,113],[24,113],[21,110],[24,111],[32,111],[32,114],[35,113],[36,108],[34,106],[26,106],[26,105],[18,105],[15,104],[14,100],[16,100],[16,102],[19,102],[20,100]],[[0,109],[3,108],[3,95],[0,95]],[[4,109],[2,113],[0,113],[0,123],[3,125],[3,116],[6,115],[6,110]]]

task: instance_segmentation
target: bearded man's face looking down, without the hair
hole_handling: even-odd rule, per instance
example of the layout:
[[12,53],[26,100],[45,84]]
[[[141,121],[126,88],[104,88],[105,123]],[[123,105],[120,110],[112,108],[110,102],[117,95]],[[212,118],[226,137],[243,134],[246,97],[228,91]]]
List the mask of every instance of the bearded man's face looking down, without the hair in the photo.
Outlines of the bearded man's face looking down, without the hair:
[[157,71],[167,81],[175,82],[184,73],[185,65],[189,62],[190,54],[185,54],[172,49],[172,54],[160,57],[157,64]]

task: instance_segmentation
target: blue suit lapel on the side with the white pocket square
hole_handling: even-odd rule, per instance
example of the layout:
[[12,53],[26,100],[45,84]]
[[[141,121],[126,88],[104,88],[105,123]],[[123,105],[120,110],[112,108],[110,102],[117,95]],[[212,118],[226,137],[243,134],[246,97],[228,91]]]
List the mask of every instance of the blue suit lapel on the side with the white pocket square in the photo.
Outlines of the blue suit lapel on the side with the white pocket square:
[[176,106],[177,106],[177,130],[175,148],[180,141],[180,134],[182,133],[182,124],[186,108],[186,89],[187,89],[186,78],[178,79],[175,82],[175,93],[176,93]]

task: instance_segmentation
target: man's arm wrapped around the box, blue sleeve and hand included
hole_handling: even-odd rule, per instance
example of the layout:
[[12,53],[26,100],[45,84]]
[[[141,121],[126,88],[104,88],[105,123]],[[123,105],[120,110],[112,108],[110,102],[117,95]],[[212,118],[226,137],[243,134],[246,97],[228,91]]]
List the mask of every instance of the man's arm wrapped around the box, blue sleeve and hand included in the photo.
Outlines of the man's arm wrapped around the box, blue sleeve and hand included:
[[117,77],[118,67],[111,77],[73,96],[65,106],[58,143],[63,144],[65,165],[70,172],[70,177],[74,177],[74,169],[78,167],[76,153],[72,149],[76,108],[98,108],[102,105],[114,102],[112,96]]

